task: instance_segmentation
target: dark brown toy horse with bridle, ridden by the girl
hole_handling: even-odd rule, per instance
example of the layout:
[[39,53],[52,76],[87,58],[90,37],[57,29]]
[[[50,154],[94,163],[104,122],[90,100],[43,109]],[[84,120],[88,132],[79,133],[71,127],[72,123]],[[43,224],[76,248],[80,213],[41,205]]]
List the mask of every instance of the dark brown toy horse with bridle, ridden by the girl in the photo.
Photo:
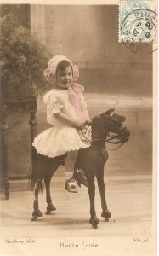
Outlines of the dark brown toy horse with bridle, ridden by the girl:
[[[107,115],[106,115],[107,114]],[[100,115],[99,118],[94,119],[92,124],[92,137],[93,140],[91,142],[91,146],[89,148],[83,148],[78,151],[77,161],[75,164],[75,169],[82,169],[85,173],[88,182],[88,195],[90,201],[90,220],[89,223],[92,224],[94,228],[97,228],[99,224],[99,219],[96,216],[95,207],[94,207],[94,199],[95,199],[95,186],[94,179],[97,178],[97,183],[99,187],[99,193],[101,197],[101,207],[102,212],[101,216],[108,220],[111,217],[111,213],[108,211],[106,200],[105,200],[105,183],[104,183],[104,166],[105,162],[108,159],[107,151],[105,151],[105,140],[108,136],[109,132],[115,132],[116,134],[122,133],[120,128],[123,124],[123,119],[121,120],[121,116],[118,116],[119,120],[117,125],[114,125],[111,122],[109,123],[111,117],[106,112],[105,116]],[[107,119],[106,119],[107,118]],[[109,119],[110,118],[110,119]],[[112,120],[111,120],[112,121]],[[127,137],[129,134],[127,132]],[[35,200],[34,200],[34,211],[32,213],[32,220],[37,220],[37,217],[42,216],[42,213],[38,207],[38,191],[40,189],[40,183],[44,179],[45,187],[46,187],[46,201],[48,203],[47,212],[55,210],[55,207],[52,203],[51,195],[50,195],[50,181],[54,175],[54,172],[58,169],[58,167],[62,164],[65,164],[65,157],[60,156],[56,158],[48,158],[47,156],[36,154],[37,158],[37,173],[34,173],[34,192],[35,192]],[[76,174],[75,174],[76,176]]]

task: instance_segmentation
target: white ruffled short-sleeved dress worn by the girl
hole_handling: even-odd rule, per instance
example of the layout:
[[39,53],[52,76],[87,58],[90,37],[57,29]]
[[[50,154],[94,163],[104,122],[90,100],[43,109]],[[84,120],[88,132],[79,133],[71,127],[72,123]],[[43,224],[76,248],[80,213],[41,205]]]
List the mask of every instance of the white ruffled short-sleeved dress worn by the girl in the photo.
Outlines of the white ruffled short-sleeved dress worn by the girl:
[[[47,155],[48,157],[55,157],[71,150],[88,148],[90,146],[89,141],[82,140],[80,132],[76,128],[65,125],[65,123],[60,122],[59,119],[54,117],[54,113],[60,113],[61,111],[73,119],[77,119],[77,113],[68,98],[68,90],[49,90],[43,96],[43,102],[47,104],[47,121],[53,127],[35,137],[32,145],[36,148],[37,153]],[[87,107],[82,94],[81,104],[82,109]],[[88,134],[90,138],[90,132]]]

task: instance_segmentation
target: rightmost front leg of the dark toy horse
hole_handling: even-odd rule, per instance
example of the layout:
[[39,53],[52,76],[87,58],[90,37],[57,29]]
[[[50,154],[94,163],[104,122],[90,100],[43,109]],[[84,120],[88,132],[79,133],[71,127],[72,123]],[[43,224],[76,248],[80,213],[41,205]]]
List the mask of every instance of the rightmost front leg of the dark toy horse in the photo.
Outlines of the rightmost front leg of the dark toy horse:
[[109,212],[106,204],[105,199],[105,182],[104,182],[104,166],[101,166],[98,168],[96,172],[97,182],[99,186],[99,193],[101,198],[101,207],[102,207],[102,213],[101,217],[105,218],[105,221],[109,221],[109,218],[111,218],[111,212]]

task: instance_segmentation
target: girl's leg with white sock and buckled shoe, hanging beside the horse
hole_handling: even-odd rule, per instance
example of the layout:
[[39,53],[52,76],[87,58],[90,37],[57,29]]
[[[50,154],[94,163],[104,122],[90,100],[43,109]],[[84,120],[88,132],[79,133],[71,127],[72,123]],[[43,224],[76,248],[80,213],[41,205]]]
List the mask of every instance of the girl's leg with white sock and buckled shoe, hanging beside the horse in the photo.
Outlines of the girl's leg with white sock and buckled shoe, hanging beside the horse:
[[65,176],[66,176],[66,183],[65,189],[69,192],[77,192],[77,182],[73,179],[73,172],[75,162],[77,160],[77,150],[71,150],[67,152],[67,159],[65,160]]

